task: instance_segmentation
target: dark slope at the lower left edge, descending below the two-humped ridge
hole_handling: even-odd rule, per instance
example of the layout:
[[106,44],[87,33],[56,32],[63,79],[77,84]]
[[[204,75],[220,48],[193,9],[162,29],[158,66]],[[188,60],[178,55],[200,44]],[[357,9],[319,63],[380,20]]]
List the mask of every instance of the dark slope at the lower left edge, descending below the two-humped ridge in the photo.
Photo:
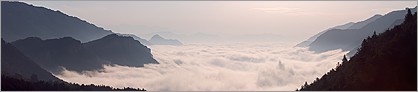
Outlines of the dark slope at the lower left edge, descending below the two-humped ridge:
[[61,81],[3,39],[1,40],[1,53],[2,76],[14,76],[29,81]]

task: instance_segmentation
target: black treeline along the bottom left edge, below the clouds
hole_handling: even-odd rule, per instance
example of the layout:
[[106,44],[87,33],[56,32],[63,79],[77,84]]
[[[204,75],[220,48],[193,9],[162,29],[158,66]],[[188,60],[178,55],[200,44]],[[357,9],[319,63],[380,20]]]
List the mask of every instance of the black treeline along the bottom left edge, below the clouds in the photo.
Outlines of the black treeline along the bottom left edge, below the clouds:
[[2,91],[146,91],[139,88],[113,88],[105,85],[84,85],[61,81],[27,81],[1,76]]

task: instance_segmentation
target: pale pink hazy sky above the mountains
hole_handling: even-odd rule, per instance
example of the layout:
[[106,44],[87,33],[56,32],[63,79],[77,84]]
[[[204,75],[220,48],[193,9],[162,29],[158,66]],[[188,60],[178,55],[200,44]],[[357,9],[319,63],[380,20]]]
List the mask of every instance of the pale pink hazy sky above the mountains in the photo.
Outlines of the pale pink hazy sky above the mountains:
[[120,33],[274,34],[289,41],[302,41],[336,25],[417,4],[416,1],[25,2],[60,10]]

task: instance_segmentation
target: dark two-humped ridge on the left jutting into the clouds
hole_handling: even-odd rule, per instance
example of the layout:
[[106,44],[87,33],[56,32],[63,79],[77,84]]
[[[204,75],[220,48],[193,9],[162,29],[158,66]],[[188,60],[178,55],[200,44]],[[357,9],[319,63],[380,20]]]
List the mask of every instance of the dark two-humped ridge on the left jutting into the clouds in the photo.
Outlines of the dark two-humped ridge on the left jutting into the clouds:
[[105,64],[142,67],[158,64],[151,50],[129,36],[111,34],[88,43],[71,37],[42,40],[29,37],[12,44],[44,69],[57,73],[62,67],[77,72],[102,69]]

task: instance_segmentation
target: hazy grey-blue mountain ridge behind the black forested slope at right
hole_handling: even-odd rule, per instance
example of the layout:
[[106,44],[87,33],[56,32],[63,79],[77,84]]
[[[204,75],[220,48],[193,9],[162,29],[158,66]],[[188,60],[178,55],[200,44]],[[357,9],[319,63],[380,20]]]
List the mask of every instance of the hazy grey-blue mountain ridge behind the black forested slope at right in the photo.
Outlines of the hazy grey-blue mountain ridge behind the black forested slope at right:
[[[416,12],[416,7],[412,9]],[[331,29],[318,36],[315,41],[309,45],[309,50],[315,52],[325,52],[328,50],[342,49],[344,51],[356,51],[361,41],[367,36],[373,35],[373,32],[382,33],[385,30],[400,24],[406,14],[406,10],[392,11],[384,16],[375,15],[358,26],[352,27],[359,29]],[[374,21],[373,21],[374,20]]]

